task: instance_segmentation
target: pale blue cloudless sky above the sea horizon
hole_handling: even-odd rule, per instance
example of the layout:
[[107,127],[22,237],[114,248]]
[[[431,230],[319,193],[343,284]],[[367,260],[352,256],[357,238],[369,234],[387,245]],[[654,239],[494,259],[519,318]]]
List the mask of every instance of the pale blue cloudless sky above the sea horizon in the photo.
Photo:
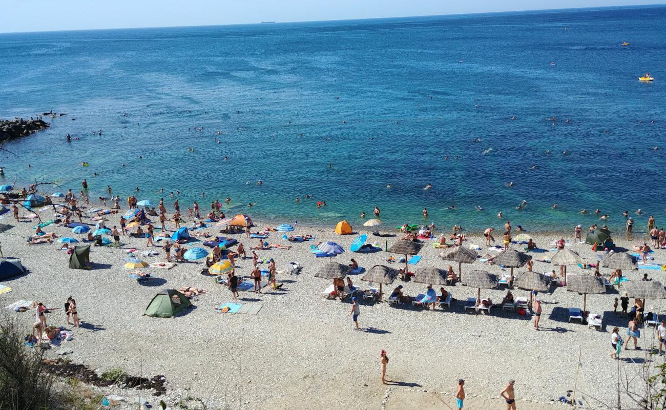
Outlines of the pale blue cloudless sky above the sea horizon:
[[2,0],[0,32],[320,21],[664,4],[666,0]]

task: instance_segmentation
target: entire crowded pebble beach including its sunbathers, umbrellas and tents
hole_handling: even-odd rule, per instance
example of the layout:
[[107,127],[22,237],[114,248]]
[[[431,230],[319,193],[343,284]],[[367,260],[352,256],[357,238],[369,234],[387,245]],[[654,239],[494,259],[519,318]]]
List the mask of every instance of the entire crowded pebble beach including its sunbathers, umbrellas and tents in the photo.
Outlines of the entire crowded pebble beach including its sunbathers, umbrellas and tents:
[[31,325],[29,346],[163,374],[167,399],[592,408],[617,396],[613,359],[633,374],[663,352],[654,218],[620,235],[445,231],[386,227],[377,207],[365,226],[325,229],[226,215],[229,198],[181,213],[138,194],[121,209],[111,187],[91,203],[85,180],[45,187],[0,187],[3,306]]

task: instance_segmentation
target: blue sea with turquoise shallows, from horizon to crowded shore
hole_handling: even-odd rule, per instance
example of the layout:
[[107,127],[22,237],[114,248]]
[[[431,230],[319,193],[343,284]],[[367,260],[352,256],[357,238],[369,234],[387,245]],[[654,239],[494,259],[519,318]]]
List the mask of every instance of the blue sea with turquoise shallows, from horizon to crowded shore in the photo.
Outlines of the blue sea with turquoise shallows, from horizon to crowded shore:
[[639,207],[659,223],[665,39],[665,7],[2,34],[0,117],[69,114],[5,144],[5,178],[78,191],[85,177],[92,197],[179,189],[202,209],[230,196],[280,221],[359,225],[378,205],[396,225],[423,207],[466,227],[501,210],[568,229],[596,220],[583,207],[611,228]]

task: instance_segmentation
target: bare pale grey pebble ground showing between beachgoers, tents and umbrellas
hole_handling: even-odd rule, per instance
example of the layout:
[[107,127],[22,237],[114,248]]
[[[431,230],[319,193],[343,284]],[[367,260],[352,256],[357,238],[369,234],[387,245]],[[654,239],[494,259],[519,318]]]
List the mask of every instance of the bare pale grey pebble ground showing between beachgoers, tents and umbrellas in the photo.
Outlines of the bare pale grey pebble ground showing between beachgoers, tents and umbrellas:
[[[121,211],[123,212],[123,211]],[[52,209],[40,212],[42,219],[51,217]],[[9,223],[9,216],[3,222]],[[21,209],[21,216],[27,211]],[[118,225],[119,215],[107,215],[107,226]],[[188,219],[188,218],[185,218]],[[581,307],[583,296],[568,292],[565,287],[551,287],[549,293],[540,293],[543,300],[541,331],[535,331],[529,316],[511,311],[492,309],[490,315],[477,315],[464,311],[464,301],[476,297],[477,289],[446,286],[454,295],[450,308],[426,311],[421,307],[403,304],[398,307],[386,302],[360,301],[360,330],[348,316],[350,299],[329,300],[322,291],[330,281],[314,277],[314,273],[329,258],[316,258],[310,251],[312,243],[290,243],[292,248],[257,251],[261,259],[274,258],[278,269],[277,281],[282,288],[264,288],[258,295],[241,291],[238,303],[260,305],[256,315],[219,313],[222,303],[232,302],[232,294],[224,285],[218,285],[209,275],[202,275],[202,261],[176,263],[172,269],[143,271],[153,276],[145,283],[127,277],[123,269],[127,249],[135,248],[141,259],[163,262],[165,255],[159,247],[147,247],[145,239],[121,237],[120,248],[91,247],[92,269],[69,269],[69,255],[59,250],[57,240],[43,245],[27,245],[25,237],[34,233],[36,219],[21,218],[11,229],[0,233],[5,257],[18,257],[29,273],[4,281],[12,291],[0,295],[3,306],[18,299],[42,301],[47,307],[61,307],[72,295],[77,300],[80,329],[65,324],[65,315],[54,311],[47,321],[73,330],[73,341],[65,343],[73,353],[71,360],[84,363],[91,369],[121,367],[129,373],[165,375],[167,403],[184,397],[198,397],[209,409],[311,409],[344,405],[364,405],[366,408],[399,409],[402,403],[420,403],[420,408],[442,408],[442,402],[454,407],[452,396],[456,381],[466,379],[470,399],[466,408],[503,408],[499,392],[509,379],[516,380],[519,408],[547,409],[555,405],[558,397],[573,389],[577,362],[582,368],[577,379],[577,398],[592,405],[589,397],[613,400],[614,381],[618,362],[609,358],[610,330],[623,329],[628,319],[613,314],[613,301],[619,297],[615,287],[605,295],[588,295],[587,310],[604,313],[601,331],[569,323],[569,307]],[[93,223],[84,218],[84,223]],[[188,221],[189,223],[189,221]],[[255,221],[257,228],[275,226],[270,221]],[[167,231],[172,233],[173,226]],[[573,228],[573,227],[572,227]],[[219,227],[203,231],[218,235]],[[253,230],[254,230],[253,229]],[[298,225],[291,234],[310,234],[314,241],[334,241],[346,249],[332,258],[346,264],[354,257],[359,265],[369,269],[386,265],[386,258],[394,255],[384,251],[399,238],[397,230],[382,231],[386,236],[376,237],[363,227],[354,227],[359,233],[368,233],[368,243],[376,241],[380,247],[373,253],[352,253],[352,240],[357,235],[337,235],[333,227]],[[55,224],[44,228],[59,237],[81,237],[71,229]],[[448,232],[447,232],[448,233]],[[160,235],[159,233],[157,235]],[[466,232],[464,246],[480,245],[486,253],[481,232]],[[643,243],[643,233],[634,233],[632,240],[613,235],[619,247],[631,249]],[[230,235],[243,243],[248,253],[256,239],[244,233]],[[288,243],[282,233],[270,233],[267,241]],[[537,246],[549,249],[559,234],[532,235]],[[589,245],[575,243],[573,232],[566,237],[567,247],[586,261],[597,261]],[[82,245],[79,243],[79,245]],[[161,246],[161,245],[160,245]],[[186,247],[201,246],[190,243]],[[511,244],[511,249],[522,251],[524,245]],[[141,252],[155,249],[159,255],[143,257]],[[492,253],[492,251],[488,251]],[[665,251],[656,250],[655,263],[666,263]],[[496,252],[497,253],[497,252]],[[419,255],[422,259],[410,270],[419,267],[443,267],[450,263],[440,257],[440,249],[426,241]],[[559,271],[559,267],[538,261],[551,252],[533,253],[537,272]],[[302,270],[298,275],[280,273],[291,261],[298,262]],[[400,263],[392,263],[400,267]],[[455,267],[456,271],[458,267]],[[462,265],[462,275],[472,269],[482,269],[498,275],[508,269],[476,261]],[[236,274],[247,277],[252,270],[251,259],[236,261]],[[521,271],[524,269],[516,269]],[[581,273],[578,267],[569,267],[568,273]],[[601,269],[605,275],[609,269]],[[589,272],[589,271],[587,271]],[[638,280],[644,272],[661,280],[661,270],[625,272],[630,280]],[[359,275],[350,275],[354,285],[368,289],[369,283],[360,281]],[[384,287],[390,293],[396,285],[404,285],[404,294],[414,297],[424,292],[426,285],[396,279]],[[206,289],[205,295],[194,297],[192,309],[186,309],[171,319],[144,316],[153,296],[162,289],[179,287]],[[436,287],[439,289],[439,287]],[[505,290],[482,291],[500,303]],[[513,289],[516,297],[528,296],[527,291]],[[384,295],[386,298],[388,295]],[[646,311],[661,311],[661,301],[649,301]],[[31,325],[32,311],[15,313],[26,325]],[[645,329],[639,343],[643,347],[654,345],[654,329]],[[621,334],[623,330],[621,330]],[[379,352],[386,350],[390,357],[387,378],[394,385],[382,385],[379,377]],[[57,357],[54,350],[47,355]],[[624,351],[620,367],[631,373],[640,367],[645,351]],[[122,394],[122,391],[121,391]],[[149,399],[150,400],[150,399]],[[439,406],[439,407],[438,407]],[[443,408],[447,408],[446,406]],[[595,407],[589,407],[595,408]]]

